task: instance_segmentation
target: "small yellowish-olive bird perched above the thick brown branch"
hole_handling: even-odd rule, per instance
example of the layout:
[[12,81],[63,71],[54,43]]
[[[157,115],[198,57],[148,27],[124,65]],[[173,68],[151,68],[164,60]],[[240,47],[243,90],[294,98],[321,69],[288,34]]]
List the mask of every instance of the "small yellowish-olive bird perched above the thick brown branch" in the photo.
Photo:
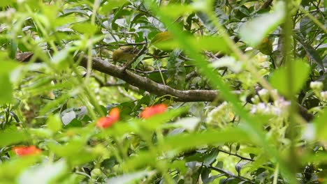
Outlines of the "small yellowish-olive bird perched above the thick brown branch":
[[114,61],[115,65],[117,62],[128,62],[133,60],[138,52],[140,52],[140,50],[134,48],[133,46],[122,46],[112,52],[112,60]]

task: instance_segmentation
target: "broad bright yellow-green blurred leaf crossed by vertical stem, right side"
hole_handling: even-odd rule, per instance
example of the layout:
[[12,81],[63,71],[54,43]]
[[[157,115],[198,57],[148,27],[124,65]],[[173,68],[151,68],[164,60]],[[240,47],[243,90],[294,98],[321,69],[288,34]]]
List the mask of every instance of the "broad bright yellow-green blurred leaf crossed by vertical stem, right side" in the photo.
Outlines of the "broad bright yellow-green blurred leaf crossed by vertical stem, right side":
[[[270,77],[270,82],[281,93],[282,95],[295,95],[300,91],[303,84],[307,80],[307,76],[310,72],[310,67],[304,61],[293,61],[293,76],[289,76],[287,68],[279,68],[273,72],[273,75]],[[287,78],[291,77],[292,79],[292,88],[290,89]]]

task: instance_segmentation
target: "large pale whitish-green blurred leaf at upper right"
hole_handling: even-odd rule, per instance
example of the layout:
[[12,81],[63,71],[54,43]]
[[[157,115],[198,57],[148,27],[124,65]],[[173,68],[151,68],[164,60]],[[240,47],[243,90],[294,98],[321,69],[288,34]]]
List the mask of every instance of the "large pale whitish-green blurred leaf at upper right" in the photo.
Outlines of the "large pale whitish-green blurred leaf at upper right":
[[284,21],[285,5],[283,1],[277,1],[273,13],[265,13],[260,17],[246,22],[240,27],[240,38],[252,47],[258,46],[263,38],[277,29]]

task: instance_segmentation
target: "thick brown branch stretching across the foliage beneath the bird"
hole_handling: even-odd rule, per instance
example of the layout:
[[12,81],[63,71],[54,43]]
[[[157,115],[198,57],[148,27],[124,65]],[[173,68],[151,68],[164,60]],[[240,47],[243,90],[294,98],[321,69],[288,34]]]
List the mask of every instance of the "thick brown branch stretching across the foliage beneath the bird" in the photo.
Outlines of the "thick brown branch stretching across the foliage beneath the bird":
[[[21,62],[28,62],[32,56],[32,52],[17,53],[15,59]],[[78,56],[75,56],[76,61],[78,61],[79,58],[81,59],[79,63],[80,66],[87,67],[87,56],[84,54],[78,54]],[[166,98],[172,98],[176,102],[212,102],[215,100],[217,95],[219,95],[219,91],[217,90],[182,91],[173,89],[170,86],[159,84],[151,79],[148,79],[147,77],[142,77],[129,70],[124,71],[119,66],[114,66],[107,61],[98,58],[92,58],[92,68],[99,72],[111,75],[112,77],[117,77],[124,80],[126,83],[133,86],[132,90],[144,90],[159,96],[165,95]],[[100,82],[101,86],[113,86],[112,84],[106,84],[101,81],[98,82]],[[233,91],[235,94],[240,94],[241,92],[242,91]],[[313,115],[307,112],[307,109],[301,105],[299,105],[299,113],[303,118],[305,118],[306,121],[311,121],[313,118]]]

